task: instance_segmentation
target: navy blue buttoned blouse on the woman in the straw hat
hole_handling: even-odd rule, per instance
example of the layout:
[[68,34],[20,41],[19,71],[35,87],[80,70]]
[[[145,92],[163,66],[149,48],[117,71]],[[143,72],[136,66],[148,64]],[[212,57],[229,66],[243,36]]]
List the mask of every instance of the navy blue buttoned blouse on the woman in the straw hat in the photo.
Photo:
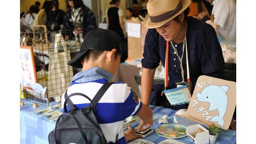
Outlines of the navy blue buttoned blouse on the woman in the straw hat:
[[[218,42],[214,28],[193,17],[187,17],[187,49],[190,81],[192,90],[194,90],[197,78],[201,75],[208,75],[216,78],[224,79],[224,58],[222,55],[221,45]],[[182,55],[183,42],[179,44],[173,43],[179,56]],[[165,67],[166,57],[166,41],[156,31],[156,29],[148,29],[142,67],[147,69],[155,69],[159,62]],[[186,48],[182,59],[184,69],[184,79],[187,80],[186,66]],[[169,88],[176,87],[177,82],[182,81],[180,60],[174,54],[171,43],[169,42]]]

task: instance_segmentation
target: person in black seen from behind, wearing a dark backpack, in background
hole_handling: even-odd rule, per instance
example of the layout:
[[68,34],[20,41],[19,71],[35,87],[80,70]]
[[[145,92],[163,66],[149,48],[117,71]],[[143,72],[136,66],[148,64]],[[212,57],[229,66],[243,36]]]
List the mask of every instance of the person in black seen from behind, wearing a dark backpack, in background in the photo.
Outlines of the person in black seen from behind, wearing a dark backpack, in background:
[[58,31],[63,24],[63,18],[66,13],[59,9],[59,1],[51,1],[51,10],[46,12],[46,26],[49,31]]

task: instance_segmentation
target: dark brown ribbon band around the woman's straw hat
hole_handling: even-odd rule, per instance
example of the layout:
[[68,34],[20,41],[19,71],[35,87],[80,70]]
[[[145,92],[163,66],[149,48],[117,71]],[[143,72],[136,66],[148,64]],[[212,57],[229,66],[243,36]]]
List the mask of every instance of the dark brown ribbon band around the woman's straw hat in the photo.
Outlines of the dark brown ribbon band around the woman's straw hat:
[[172,17],[175,15],[178,11],[182,9],[182,3],[181,0],[179,1],[177,7],[174,10],[171,10],[169,12],[166,12],[164,14],[160,14],[158,16],[149,16],[152,23],[159,23],[161,21],[166,20],[169,17]]

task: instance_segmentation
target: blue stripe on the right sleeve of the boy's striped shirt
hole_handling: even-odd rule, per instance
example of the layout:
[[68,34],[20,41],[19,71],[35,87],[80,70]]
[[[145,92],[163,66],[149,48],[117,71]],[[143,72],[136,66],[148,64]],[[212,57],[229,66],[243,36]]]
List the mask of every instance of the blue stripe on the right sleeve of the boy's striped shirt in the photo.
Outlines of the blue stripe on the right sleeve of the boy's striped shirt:
[[[135,102],[135,100],[133,99],[133,95],[134,92],[131,90],[130,95],[128,96],[128,98],[125,100],[124,102],[124,119],[129,117],[135,110],[135,107],[138,105],[138,103]],[[141,108],[141,106],[140,106]],[[136,114],[140,111],[140,109],[138,109],[136,111]]]

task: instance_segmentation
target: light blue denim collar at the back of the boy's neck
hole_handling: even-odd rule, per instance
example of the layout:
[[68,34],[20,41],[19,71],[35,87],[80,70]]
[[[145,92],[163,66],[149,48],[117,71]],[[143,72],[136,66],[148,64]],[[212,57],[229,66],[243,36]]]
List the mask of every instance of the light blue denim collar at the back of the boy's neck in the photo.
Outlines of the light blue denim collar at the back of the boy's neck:
[[102,78],[111,81],[113,74],[99,67],[93,67],[85,71],[81,71],[72,78],[72,82],[75,83],[86,83]]

